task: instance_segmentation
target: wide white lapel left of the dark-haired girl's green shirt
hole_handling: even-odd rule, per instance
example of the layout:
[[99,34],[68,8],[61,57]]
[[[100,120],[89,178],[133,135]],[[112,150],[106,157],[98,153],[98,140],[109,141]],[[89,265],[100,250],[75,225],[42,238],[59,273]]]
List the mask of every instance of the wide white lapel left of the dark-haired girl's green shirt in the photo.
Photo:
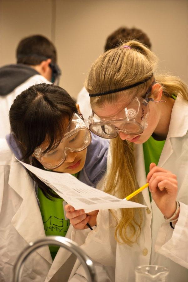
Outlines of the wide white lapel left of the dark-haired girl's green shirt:
[[[29,177],[24,167],[15,160],[14,156],[8,184],[23,199],[11,223],[28,244],[39,238],[44,238],[44,225],[34,192],[33,180]],[[37,249],[37,252],[48,262],[52,263],[48,246]]]

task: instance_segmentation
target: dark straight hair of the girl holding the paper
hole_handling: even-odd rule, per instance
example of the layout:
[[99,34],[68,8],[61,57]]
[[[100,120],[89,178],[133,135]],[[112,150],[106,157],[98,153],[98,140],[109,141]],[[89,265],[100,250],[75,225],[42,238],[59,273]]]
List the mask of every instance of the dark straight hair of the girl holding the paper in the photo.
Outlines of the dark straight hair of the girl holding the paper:
[[[70,119],[73,112],[77,112],[75,101],[63,88],[53,84],[33,85],[18,95],[10,108],[9,118],[11,132],[22,152],[22,161],[29,163],[34,149],[44,142],[46,136],[49,146],[45,151],[57,147],[64,136],[63,121],[67,117]],[[44,169],[34,157],[32,165]],[[56,196],[50,187],[27,171],[47,198]]]

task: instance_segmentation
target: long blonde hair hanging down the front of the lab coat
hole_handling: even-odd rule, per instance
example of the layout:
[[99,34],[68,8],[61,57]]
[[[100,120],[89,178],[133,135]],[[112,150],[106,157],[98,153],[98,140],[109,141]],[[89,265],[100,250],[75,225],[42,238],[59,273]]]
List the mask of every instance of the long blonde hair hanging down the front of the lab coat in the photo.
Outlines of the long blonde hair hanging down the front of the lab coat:
[[[135,190],[136,186],[133,144],[122,140],[118,136],[111,140],[111,152],[112,164],[107,176],[105,192],[124,199]],[[130,200],[139,203],[139,196],[136,195]],[[141,209],[129,208],[121,209],[120,212],[122,220],[117,220],[115,238],[118,242],[123,241],[128,245],[132,245],[140,235],[142,211]]]

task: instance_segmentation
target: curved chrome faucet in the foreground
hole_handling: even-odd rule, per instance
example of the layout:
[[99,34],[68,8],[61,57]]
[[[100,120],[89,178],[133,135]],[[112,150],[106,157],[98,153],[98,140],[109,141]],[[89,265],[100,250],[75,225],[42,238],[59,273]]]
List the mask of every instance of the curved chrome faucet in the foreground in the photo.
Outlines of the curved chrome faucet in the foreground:
[[36,249],[45,245],[56,245],[64,247],[66,250],[72,252],[74,255],[76,255],[76,257],[80,260],[81,264],[83,265],[86,271],[87,280],[89,282],[97,281],[96,271],[93,262],[91,261],[90,257],[88,257],[75,242],[61,236],[46,236],[43,239],[35,241],[34,243],[29,243],[29,246],[24,248],[24,250],[20,253],[14,265],[14,282],[20,282],[23,264],[27,257]]

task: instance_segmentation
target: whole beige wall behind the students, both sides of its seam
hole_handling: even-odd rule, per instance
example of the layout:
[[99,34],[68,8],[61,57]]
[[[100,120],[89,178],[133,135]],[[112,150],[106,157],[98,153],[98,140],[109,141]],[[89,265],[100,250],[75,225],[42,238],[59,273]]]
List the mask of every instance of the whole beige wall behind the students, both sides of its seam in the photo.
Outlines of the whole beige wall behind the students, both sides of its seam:
[[123,25],[145,31],[160,69],[187,82],[187,1],[1,1],[1,65],[15,62],[21,38],[43,34],[58,51],[60,86],[76,97],[106,37]]

